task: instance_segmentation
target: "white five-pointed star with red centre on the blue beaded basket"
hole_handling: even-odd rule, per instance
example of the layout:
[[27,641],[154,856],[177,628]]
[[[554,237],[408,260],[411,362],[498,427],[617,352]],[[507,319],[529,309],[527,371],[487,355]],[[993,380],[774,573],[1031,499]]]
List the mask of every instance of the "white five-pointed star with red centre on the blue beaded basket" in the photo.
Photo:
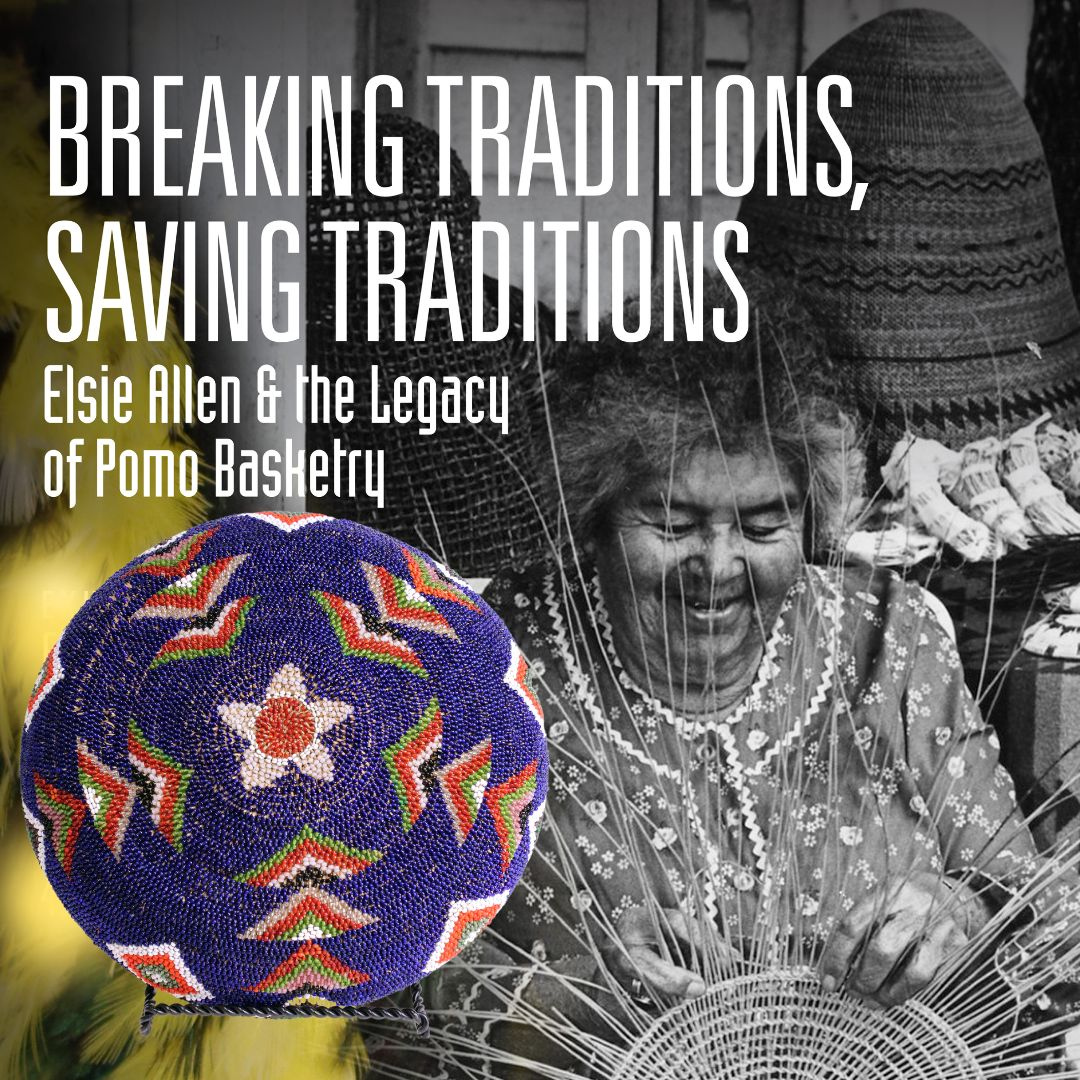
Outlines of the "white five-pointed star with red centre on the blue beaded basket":
[[309,698],[303,674],[285,664],[270,679],[261,701],[231,701],[218,716],[247,741],[240,765],[244,787],[269,787],[289,766],[314,780],[333,780],[334,762],[321,737],[352,715],[352,705]]

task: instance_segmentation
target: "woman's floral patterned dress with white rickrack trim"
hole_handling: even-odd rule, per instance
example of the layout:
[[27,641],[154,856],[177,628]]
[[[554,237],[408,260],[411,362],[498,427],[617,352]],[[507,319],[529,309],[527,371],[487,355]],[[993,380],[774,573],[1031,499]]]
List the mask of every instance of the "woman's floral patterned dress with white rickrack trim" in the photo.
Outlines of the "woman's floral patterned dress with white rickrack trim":
[[[487,1016],[478,1040],[498,1010],[512,1016],[530,997],[580,1015],[550,976],[611,987],[604,971],[633,907],[715,927],[757,968],[812,968],[846,913],[919,870],[966,882],[991,910],[1030,917],[1041,905],[1043,926],[1047,912],[1077,922],[1080,900],[1064,885],[1027,906],[1041,860],[997,735],[918,586],[807,567],[750,690],[710,718],[680,716],[664,704],[670,690],[630,678],[589,567],[507,576],[485,598],[528,659],[551,787],[525,879],[473,946],[473,960],[490,959],[495,942],[512,954],[514,988],[492,1007],[492,982],[473,969],[436,990],[451,1011]],[[708,981],[707,949],[680,962]],[[619,1008],[612,999],[624,1021]]]

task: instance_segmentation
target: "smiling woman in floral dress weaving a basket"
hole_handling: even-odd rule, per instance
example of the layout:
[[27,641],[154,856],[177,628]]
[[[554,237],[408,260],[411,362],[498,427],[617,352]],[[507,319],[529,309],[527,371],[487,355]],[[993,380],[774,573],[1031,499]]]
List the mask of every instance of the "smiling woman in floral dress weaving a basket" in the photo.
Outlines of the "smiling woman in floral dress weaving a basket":
[[482,939],[517,973],[443,987],[497,1061],[615,1075],[604,1047],[778,966],[893,1005],[1035,873],[926,594],[812,565],[862,461],[807,323],[751,285],[742,342],[583,350],[553,417],[573,545],[488,593],[552,752],[526,880]]

